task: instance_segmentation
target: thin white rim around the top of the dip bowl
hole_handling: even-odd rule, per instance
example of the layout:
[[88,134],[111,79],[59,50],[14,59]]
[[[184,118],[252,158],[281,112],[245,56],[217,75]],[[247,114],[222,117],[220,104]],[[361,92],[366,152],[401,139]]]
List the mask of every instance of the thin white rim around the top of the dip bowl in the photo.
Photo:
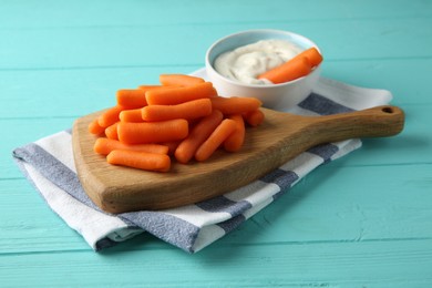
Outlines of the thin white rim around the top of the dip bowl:
[[222,78],[224,81],[228,82],[229,84],[239,85],[239,86],[244,86],[244,88],[254,88],[254,89],[280,88],[280,86],[290,85],[290,84],[294,84],[296,82],[302,81],[305,78],[308,78],[313,72],[316,72],[318,70],[318,68],[321,65],[321,63],[320,63],[318,66],[313,68],[312,71],[308,75],[306,75],[306,76],[301,76],[301,78],[298,78],[298,79],[295,79],[295,80],[291,80],[291,81],[288,81],[288,82],[279,83],[279,84],[246,84],[246,83],[241,83],[239,81],[230,80],[230,79],[222,75],[219,72],[216,71],[216,69],[213,66],[213,63],[210,63],[209,56],[210,56],[212,51],[217,45],[223,43],[224,41],[226,41],[228,39],[232,39],[232,38],[235,38],[235,37],[239,37],[241,34],[246,34],[246,33],[272,33],[272,34],[294,35],[296,38],[305,40],[305,42],[309,42],[311,44],[310,47],[315,47],[318,50],[318,52],[321,53],[321,50],[319,49],[319,47],[312,40],[310,40],[309,38],[307,38],[305,35],[301,35],[299,33],[295,33],[295,32],[286,31],[286,30],[278,30],[278,29],[250,29],[250,30],[243,30],[243,31],[238,31],[238,32],[225,35],[223,38],[219,38],[215,42],[213,42],[213,44],[207,49],[206,54],[205,54],[205,64],[206,64],[207,69],[212,69],[213,72],[217,76]]

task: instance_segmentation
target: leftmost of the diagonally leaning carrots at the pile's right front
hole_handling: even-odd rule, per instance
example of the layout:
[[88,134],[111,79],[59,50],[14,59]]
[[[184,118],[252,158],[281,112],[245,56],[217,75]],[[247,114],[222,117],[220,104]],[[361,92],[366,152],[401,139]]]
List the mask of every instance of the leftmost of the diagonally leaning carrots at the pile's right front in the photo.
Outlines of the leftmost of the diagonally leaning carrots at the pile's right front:
[[179,163],[187,163],[194,156],[196,150],[208,138],[208,136],[220,124],[224,115],[220,111],[213,113],[199,121],[175,150],[174,156]]

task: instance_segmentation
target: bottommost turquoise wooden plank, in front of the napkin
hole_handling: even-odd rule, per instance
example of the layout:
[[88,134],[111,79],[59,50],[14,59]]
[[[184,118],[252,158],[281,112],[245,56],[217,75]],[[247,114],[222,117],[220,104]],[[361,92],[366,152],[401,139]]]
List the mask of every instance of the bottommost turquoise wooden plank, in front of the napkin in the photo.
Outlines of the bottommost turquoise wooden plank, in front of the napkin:
[[[178,250],[2,255],[2,285],[140,287],[428,287],[432,240],[316,243]],[[61,275],[66,274],[66,280]],[[66,281],[66,282],[65,282]]]

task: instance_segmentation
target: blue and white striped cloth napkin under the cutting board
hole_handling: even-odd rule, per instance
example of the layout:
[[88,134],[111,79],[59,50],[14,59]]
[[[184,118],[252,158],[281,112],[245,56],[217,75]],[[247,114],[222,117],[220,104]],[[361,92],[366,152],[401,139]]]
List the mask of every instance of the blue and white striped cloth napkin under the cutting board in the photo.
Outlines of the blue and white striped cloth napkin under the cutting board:
[[[193,74],[206,78],[205,70]],[[287,112],[335,114],[387,104],[391,99],[385,90],[356,88],[321,78],[313,92]],[[276,200],[317,166],[361,146],[360,140],[319,145],[223,196],[173,209],[112,215],[95,206],[83,191],[76,176],[71,138],[70,130],[61,131],[16,148],[13,156],[47,204],[94,250],[148,232],[188,253],[196,253]]]

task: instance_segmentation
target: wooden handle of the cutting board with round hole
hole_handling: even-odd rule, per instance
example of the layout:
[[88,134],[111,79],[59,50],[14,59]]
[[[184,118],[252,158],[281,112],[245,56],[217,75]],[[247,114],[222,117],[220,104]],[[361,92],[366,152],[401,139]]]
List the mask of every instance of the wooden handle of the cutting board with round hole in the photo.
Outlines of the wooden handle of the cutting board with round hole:
[[[367,110],[313,117],[304,130],[316,143],[348,138],[383,137],[399,134],[404,125],[404,112],[382,105]],[[315,136],[312,136],[315,135]]]

